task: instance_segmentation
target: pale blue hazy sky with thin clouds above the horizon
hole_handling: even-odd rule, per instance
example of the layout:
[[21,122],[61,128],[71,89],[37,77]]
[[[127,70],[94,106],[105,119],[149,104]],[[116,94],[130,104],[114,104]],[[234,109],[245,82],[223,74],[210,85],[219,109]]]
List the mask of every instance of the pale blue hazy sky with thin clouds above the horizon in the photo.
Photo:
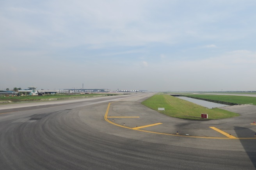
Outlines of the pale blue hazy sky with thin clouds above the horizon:
[[1,0],[0,89],[256,91],[255,0]]

